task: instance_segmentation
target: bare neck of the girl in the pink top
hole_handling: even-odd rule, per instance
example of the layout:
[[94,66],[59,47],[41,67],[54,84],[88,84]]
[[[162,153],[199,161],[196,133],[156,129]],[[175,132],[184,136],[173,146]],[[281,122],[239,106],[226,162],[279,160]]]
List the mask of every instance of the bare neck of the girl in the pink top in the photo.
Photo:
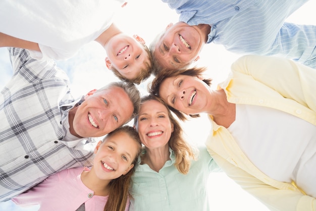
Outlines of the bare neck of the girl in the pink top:
[[89,189],[93,190],[94,195],[107,196],[109,195],[109,183],[112,180],[100,180],[96,177],[93,171],[93,166],[90,171],[83,171],[81,174],[82,183]]

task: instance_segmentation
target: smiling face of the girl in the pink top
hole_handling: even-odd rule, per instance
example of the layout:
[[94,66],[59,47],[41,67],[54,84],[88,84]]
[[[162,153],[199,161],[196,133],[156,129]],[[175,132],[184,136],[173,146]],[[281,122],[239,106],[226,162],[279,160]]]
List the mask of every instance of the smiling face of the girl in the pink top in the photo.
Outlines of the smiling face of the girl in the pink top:
[[134,166],[138,145],[124,132],[118,132],[100,141],[94,153],[93,168],[101,180],[116,179],[127,174]]

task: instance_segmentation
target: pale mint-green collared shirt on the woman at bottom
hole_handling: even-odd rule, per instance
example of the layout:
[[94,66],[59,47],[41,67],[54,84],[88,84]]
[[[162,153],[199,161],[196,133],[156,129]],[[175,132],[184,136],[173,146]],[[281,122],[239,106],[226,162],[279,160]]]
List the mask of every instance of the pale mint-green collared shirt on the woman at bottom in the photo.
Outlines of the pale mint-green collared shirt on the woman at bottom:
[[[199,148],[198,160],[191,162],[187,175],[175,167],[171,154],[159,173],[147,164],[139,164],[133,178],[130,210],[136,211],[206,211],[209,210],[207,180],[211,171],[219,171],[205,146]],[[140,163],[140,158],[139,158]]]

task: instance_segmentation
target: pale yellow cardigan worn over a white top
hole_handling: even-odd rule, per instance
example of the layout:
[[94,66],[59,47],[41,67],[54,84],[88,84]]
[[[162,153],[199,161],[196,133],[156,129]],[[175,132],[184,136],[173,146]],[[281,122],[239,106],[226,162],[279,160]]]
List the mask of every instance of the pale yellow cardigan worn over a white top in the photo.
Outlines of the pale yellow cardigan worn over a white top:
[[[316,125],[315,69],[285,58],[253,55],[241,57],[231,69],[219,85],[229,102],[275,108]],[[276,181],[259,171],[227,129],[209,117],[212,130],[207,150],[231,179],[271,210],[316,210],[315,198],[305,195],[294,182]]]

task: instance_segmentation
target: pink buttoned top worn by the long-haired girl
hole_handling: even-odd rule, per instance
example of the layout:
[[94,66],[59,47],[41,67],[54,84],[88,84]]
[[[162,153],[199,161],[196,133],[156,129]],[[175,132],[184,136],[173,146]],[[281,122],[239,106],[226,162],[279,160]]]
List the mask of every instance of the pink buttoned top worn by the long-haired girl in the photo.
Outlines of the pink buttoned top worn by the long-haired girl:
[[[22,206],[39,204],[40,210],[75,211],[85,203],[86,211],[103,211],[108,196],[95,196],[81,181],[81,173],[87,167],[69,168],[48,177],[37,186],[12,200]],[[125,211],[128,211],[129,200]]]

